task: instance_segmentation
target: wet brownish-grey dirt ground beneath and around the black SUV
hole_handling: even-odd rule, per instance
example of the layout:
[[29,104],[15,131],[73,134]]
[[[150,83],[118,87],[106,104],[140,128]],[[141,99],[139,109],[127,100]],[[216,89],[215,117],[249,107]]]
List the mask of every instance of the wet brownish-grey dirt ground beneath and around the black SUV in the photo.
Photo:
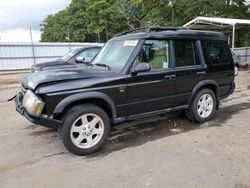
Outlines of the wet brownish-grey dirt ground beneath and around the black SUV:
[[0,88],[0,187],[250,188],[250,73],[214,121],[179,113],[119,125],[100,152],[69,153],[53,130],[34,126]]

